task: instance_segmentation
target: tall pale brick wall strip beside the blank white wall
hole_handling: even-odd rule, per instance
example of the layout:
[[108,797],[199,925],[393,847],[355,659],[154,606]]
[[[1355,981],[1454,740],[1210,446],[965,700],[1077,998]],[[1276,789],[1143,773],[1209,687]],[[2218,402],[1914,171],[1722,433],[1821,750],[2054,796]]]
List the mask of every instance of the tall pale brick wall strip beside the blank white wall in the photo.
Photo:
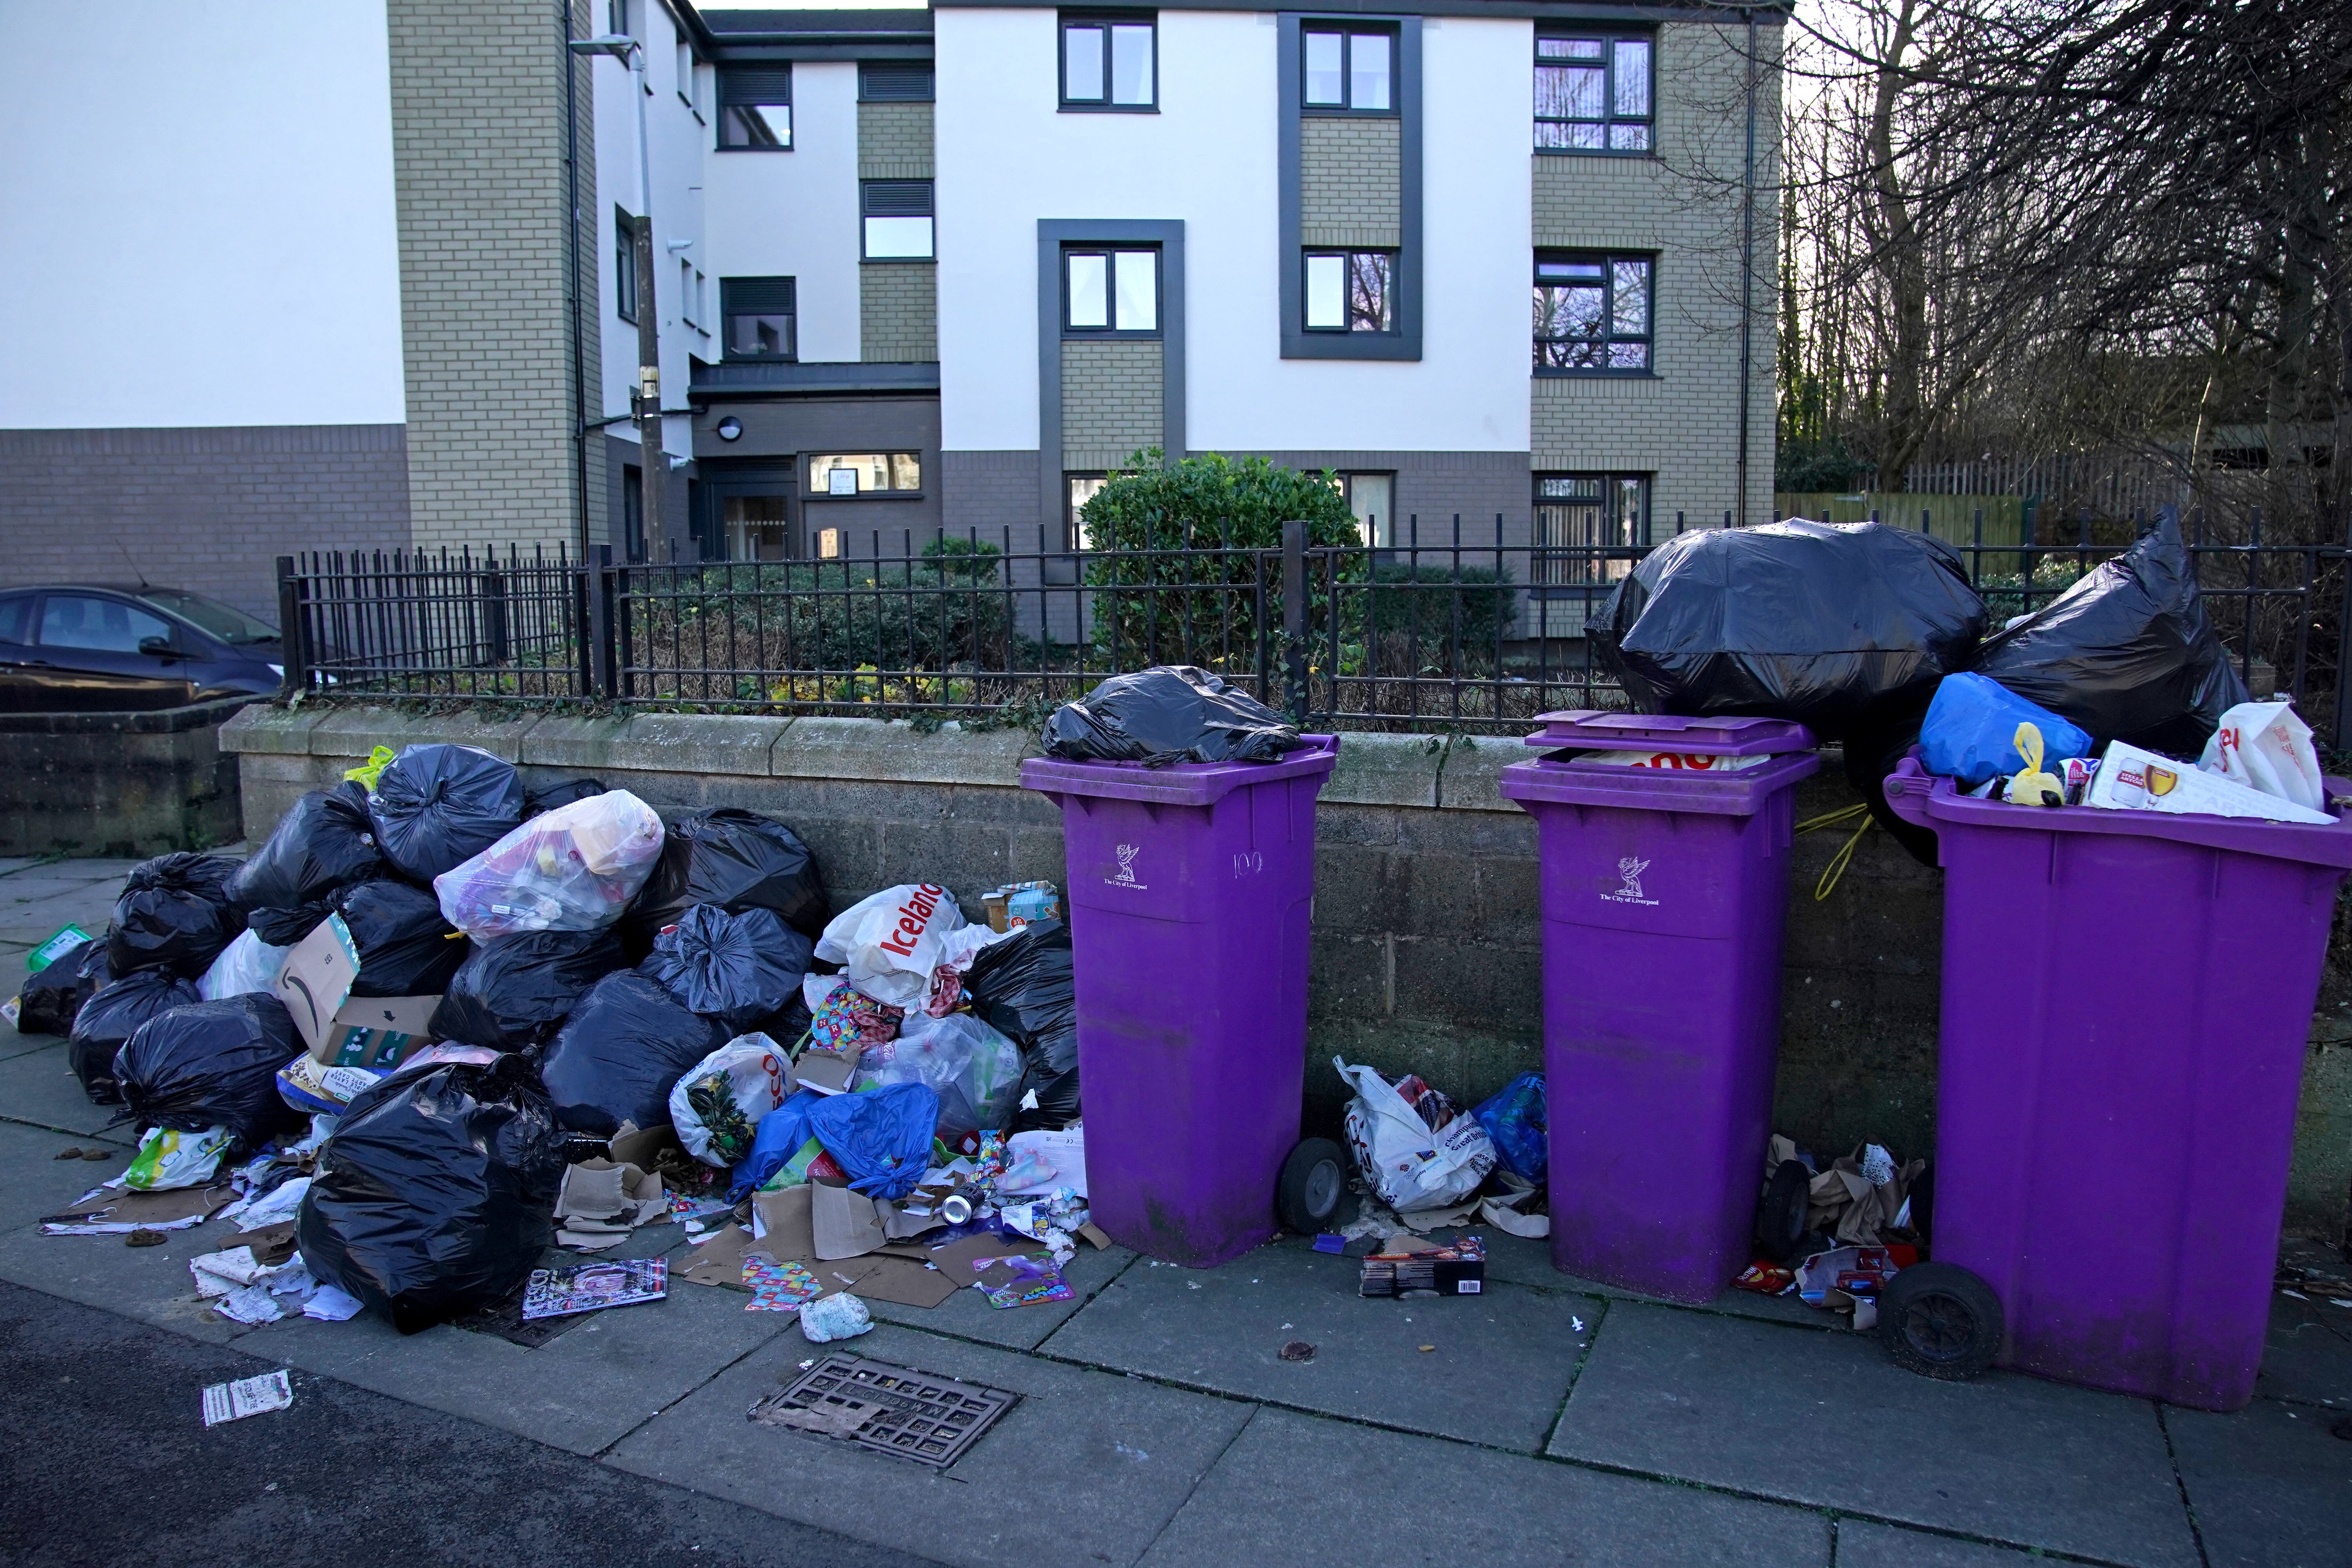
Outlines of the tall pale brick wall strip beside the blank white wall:
[[409,527],[423,545],[572,541],[562,87],[574,71],[586,122],[586,68],[532,0],[388,0],[386,14]]

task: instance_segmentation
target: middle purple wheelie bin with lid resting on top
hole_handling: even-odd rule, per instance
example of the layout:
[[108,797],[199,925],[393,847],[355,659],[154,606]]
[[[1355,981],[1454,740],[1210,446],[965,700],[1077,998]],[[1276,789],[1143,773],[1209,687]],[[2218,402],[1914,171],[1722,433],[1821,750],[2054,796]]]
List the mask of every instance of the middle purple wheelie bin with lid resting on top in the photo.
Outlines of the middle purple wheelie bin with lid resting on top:
[[[1780,1046],[1795,785],[1788,719],[1548,712],[1503,769],[1536,818],[1552,1267],[1712,1300],[1748,1267]],[[1766,757],[1738,771],[1562,748]]]

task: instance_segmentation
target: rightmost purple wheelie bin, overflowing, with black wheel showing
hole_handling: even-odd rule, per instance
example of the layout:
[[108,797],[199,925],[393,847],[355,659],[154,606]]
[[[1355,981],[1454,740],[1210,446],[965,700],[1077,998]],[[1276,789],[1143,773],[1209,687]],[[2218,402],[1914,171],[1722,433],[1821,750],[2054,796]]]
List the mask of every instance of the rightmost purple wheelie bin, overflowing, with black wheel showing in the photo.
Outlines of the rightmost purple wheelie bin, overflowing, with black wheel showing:
[[1933,1371],[1966,1302],[1889,1307],[1957,1265],[1999,1302],[1999,1366],[2244,1406],[2352,820],[2011,806],[1917,759],[1886,804],[1945,877],[1933,1265],[1882,1333]]

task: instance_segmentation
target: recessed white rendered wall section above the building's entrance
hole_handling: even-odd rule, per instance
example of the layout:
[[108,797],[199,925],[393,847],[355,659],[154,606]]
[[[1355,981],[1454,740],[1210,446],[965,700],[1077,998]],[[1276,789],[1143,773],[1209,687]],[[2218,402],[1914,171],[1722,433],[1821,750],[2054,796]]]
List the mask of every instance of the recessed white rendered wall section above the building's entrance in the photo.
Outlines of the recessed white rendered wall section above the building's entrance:
[[[793,150],[710,153],[710,277],[793,277],[800,357],[858,357],[858,68],[793,66]],[[1035,310],[1033,310],[1035,315]],[[1030,348],[1030,386],[1037,381]],[[1035,400],[1035,393],[1030,395]],[[1035,425],[1037,421],[1030,418]]]

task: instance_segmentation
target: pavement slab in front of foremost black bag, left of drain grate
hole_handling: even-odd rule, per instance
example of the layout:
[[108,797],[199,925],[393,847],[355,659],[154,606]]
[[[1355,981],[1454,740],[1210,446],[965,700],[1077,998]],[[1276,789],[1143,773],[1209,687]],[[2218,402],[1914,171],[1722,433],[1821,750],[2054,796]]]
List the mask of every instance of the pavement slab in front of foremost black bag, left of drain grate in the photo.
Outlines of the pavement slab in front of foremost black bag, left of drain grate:
[[402,1338],[372,1312],[348,1324],[266,1324],[238,1347],[572,1453],[600,1453],[795,1324],[739,1302],[731,1291],[680,1284],[668,1300],[609,1307],[539,1349],[447,1324]]

